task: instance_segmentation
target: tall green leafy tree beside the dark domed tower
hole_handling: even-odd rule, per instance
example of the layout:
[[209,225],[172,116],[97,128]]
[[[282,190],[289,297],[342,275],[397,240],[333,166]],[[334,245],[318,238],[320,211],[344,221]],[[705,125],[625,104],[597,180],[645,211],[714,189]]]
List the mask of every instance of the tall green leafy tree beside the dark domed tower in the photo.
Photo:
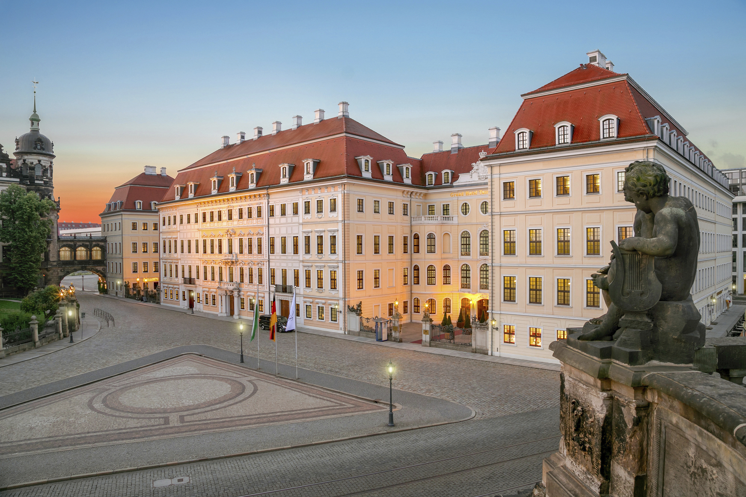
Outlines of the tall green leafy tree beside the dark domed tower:
[[0,242],[4,251],[4,279],[21,293],[37,286],[51,220],[43,219],[54,202],[40,199],[18,185],[0,193]]

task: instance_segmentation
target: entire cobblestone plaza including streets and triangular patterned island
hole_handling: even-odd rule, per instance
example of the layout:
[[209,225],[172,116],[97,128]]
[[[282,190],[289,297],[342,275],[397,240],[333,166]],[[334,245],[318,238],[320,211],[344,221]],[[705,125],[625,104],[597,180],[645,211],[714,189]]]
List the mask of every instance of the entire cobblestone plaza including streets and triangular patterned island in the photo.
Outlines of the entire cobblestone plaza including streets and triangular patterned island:
[[[16,404],[0,410],[2,438],[15,444],[0,455],[0,487],[91,476],[0,495],[510,495],[538,481],[542,457],[557,448],[552,370],[299,333],[298,384],[268,374],[274,348],[266,333],[257,372],[256,341],[244,341],[248,369],[237,365],[235,322],[79,298],[81,310],[107,310],[117,325],[0,367],[0,405]],[[286,378],[294,340],[279,335]],[[397,366],[392,433],[387,404],[366,400],[387,400],[389,360]],[[251,404],[254,385],[265,397]],[[31,396],[43,398],[19,404]],[[261,408],[249,420],[239,405]],[[169,419],[165,431],[152,428],[156,418]],[[421,426],[429,428],[410,429]],[[107,440],[95,439],[104,431]],[[338,441],[318,445],[329,440]],[[274,448],[285,449],[266,451]],[[231,454],[242,455],[222,457]]]

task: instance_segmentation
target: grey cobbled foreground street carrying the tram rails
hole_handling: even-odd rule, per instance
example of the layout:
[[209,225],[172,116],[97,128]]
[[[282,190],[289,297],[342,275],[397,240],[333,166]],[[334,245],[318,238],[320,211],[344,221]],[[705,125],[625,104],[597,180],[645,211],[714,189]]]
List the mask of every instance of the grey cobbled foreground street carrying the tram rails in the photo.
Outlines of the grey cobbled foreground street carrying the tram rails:
[[[542,457],[557,450],[558,422],[552,408],[44,484],[0,496],[497,496],[506,489],[514,490],[505,495],[514,495],[541,478]],[[154,481],[184,476],[186,484],[153,487]]]

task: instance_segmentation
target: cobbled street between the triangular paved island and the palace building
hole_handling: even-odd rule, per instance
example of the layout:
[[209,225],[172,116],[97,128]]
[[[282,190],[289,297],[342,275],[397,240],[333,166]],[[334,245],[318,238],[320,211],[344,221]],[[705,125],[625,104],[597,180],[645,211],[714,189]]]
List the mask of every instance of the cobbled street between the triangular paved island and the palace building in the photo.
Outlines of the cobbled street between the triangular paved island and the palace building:
[[[192,316],[101,296],[80,294],[81,310],[99,307],[116,318],[116,327],[53,354],[0,368],[0,395],[90,372],[169,348],[205,344],[238,351],[237,324]],[[295,334],[278,334],[278,360],[295,363]],[[263,359],[275,349],[260,331]],[[244,353],[255,356],[256,341],[244,334]],[[313,334],[298,334],[298,366],[388,386],[384,372],[397,366],[395,386],[466,404],[477,419],[526,413],[559,404],[559,373],[545,369],[383,348]]]

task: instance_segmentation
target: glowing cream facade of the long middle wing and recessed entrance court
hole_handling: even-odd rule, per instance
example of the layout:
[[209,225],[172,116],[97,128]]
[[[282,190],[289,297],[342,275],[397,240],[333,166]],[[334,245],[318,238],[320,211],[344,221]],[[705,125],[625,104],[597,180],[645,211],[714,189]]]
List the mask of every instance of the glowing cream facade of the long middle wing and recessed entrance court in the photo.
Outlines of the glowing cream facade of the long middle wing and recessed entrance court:
[[[295,291],[298,325],[342,333],[346,306],[358,302],[366,317],[390,316],[398,303],[404,322],[419,322],[432,298],[440,322],[448,298],[455,323],[468,298],[476,316],[477,307],[489,306],[479,278],[489,262],[479,245],[479,234],[489,229],[486,186],[486,176],[434,190],[346,178],[161,204],[161,303],[251,318],[252,297],[260,313],[269,313],[275,296],[278,313],[286,314]],[[462,234],[471,240],[468,254],[460,248]],[[428,235],[435,239],[431,252]],[[471,276],[462,288],[464,264]],[[428,266],[435,268],[433,284]]]

